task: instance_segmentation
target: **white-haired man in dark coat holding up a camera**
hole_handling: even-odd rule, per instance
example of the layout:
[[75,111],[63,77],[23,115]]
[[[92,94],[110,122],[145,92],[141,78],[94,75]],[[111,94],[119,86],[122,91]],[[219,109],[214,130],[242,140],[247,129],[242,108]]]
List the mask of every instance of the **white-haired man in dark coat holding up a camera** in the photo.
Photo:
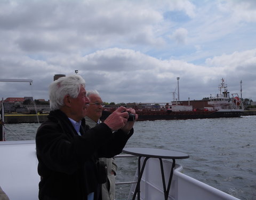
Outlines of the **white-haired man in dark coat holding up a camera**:
[[[85,125],[89,99],[82,76],[60,77],[49,86],[51,111],[36,133],[40,200],[101,200],[106,182],[99,157],[122,152],[138,119],[132,108],[119,107],[104,122]],[[128,121],[129,113],[135,115]]]

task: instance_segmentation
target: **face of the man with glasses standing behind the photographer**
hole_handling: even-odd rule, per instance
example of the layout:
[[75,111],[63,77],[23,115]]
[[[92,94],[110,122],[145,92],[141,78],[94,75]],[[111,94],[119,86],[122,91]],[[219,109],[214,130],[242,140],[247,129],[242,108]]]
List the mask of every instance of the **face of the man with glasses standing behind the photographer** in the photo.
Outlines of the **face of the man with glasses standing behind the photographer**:
[[98,122],[98,119],[102,115],[102,100],[98,94],[91,94],[89,96],[90,105],[87,108],[87,116],[90,117],[94,122]]

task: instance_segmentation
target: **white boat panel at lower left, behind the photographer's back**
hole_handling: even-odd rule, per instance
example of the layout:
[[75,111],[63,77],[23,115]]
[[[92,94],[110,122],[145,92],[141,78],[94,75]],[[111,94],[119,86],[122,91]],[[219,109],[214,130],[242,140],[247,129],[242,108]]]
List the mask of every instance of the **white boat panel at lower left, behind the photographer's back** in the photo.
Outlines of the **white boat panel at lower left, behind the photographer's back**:
[[10,200],[38,199],[35,141],[0,142],[0,186]]

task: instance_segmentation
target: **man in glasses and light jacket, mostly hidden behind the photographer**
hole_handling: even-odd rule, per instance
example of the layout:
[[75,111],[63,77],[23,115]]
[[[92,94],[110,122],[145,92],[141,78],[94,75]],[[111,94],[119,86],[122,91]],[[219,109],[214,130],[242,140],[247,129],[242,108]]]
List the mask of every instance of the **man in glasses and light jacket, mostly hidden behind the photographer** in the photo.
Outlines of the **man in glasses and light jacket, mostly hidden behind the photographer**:
[[[87,107],[87,114],[85,117],[85,123],[90,129],[97,124],[101,123],[100,117],[102,115],[103,103],[100,98],[99,92],[96,90],[90,90],[86,92],[86,97],[90,100],[90,104]],[[117,165],[114,158],[100,158],[107,165],[108,179],[107,182],[102,184],[102,200],[114,200],[115,199],[115,175]]]

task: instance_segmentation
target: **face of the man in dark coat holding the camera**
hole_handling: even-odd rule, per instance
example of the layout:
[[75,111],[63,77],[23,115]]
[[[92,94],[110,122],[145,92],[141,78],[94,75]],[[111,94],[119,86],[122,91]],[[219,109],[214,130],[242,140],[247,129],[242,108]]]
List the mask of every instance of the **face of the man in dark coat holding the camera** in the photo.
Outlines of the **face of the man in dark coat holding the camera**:
[[83,86],[81,86],[79,94],[77,98],[71,98],[71,115],[75,121],[80,121],[82,118],[86,116],[86,109],[88,103],[90,102],[89,99],[85,96],[86,91]]

